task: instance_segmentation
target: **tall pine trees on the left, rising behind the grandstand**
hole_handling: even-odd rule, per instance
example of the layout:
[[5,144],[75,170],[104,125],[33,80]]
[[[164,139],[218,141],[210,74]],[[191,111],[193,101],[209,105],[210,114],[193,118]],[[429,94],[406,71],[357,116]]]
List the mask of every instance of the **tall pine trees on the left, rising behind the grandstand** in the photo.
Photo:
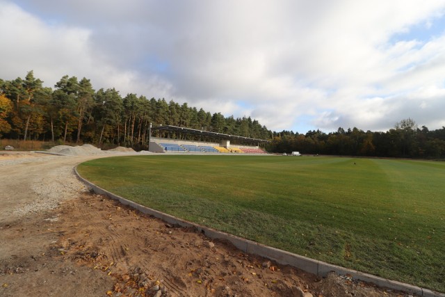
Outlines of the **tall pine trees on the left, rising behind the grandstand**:
[[[0,79],[0,137],[143,148],[150,122],[154,127],[174,125],[261,139],[272,136],[272,131],[250,117],[226,118],[187,103],[147,99],[133,93],[122,97],[115,88],[96,91],[86,78],[79,81],[64,76],[54,89],[42,83],[33,71],[24,79]],[[154,136],[167,136],[157,133]]]

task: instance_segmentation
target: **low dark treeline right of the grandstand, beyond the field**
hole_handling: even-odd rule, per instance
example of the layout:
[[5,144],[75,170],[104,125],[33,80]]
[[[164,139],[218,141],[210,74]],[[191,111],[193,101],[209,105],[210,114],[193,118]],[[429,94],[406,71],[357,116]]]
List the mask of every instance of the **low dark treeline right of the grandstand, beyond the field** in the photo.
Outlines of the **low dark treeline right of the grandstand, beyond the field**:
[[386,132],[365,132],[357,128],[339,128],[329,134],[320,130],[306,134],[281,131],[274,132],[269,149],[303,154],[444,159],[445,127],[430,131],[425,126],[417,127],[414,120],[408,118]]

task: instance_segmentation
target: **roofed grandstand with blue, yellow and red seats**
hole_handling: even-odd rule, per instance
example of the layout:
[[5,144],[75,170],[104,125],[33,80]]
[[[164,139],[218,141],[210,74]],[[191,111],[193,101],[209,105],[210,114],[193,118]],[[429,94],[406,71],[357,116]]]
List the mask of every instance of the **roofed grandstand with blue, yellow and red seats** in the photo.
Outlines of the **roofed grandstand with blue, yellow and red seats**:
[[266,143],[270,141],[186,127],[159,126],[149,131],[150,152],[267,154],[260,147]]

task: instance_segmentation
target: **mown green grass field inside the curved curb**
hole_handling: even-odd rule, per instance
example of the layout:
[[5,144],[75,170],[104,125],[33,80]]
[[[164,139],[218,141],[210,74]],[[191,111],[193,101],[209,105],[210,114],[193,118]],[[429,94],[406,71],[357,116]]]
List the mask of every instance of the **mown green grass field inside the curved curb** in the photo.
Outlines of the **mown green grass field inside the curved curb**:
[[186,220],[445,292],[445,162],[168,155],[96,159],[78,170]]

